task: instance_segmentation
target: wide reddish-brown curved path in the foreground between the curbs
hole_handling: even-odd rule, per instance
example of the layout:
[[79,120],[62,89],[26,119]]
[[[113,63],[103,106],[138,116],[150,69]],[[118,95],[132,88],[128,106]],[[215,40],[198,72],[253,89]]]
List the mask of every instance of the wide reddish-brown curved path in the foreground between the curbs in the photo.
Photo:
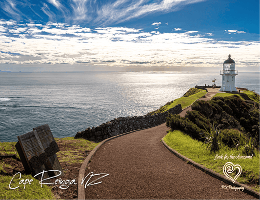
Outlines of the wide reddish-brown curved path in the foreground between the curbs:
[[109,175],[87,186],[85,199],[255,199],[221,189],[227,184],[174,156],[160,141],[168,129],[163,123],[104,143],[85,177],[90,172]]

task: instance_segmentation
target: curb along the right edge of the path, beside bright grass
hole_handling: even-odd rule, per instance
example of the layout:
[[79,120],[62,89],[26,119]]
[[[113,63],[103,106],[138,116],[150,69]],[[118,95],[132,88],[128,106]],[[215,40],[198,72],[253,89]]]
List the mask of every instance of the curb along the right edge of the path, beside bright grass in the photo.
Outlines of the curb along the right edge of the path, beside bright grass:
[[218,179],[218,180],[221,180],[229,185],[232,185],[232,186],[236,186],[236,187],[244,187],[244,190],[242,192],[245,192],[255,198],[258,198],[260,199],[260,195],[259,193],[257,193],[256,191],[250,189],[247,185],[244,185],[244,184],[241,184],[239,183],[238,181],[235,181],[235,183],[233,183],[232,181],[230,181],[229,179],[227,179],[225,176],[213,171],[212,169],[208,169],[206,167],[204,167],[203,165],[191,160],[191,159],[188,159],[187,157],[181,155],[180,153],[178,153],[177,151],[175,151],[174,149],[172,149],[171,147],[169,147],[165,141],[164,141],[164,138],[166,136],[164,136],[162,139],[161,139],[161,142],[163,143],[163,145],[171,152],[173,153],[175,156],[177,156],[179,159],[187,162],[187,164],[191,164],[192,166],[200,169],[201,171],[205,172],[206,174]]

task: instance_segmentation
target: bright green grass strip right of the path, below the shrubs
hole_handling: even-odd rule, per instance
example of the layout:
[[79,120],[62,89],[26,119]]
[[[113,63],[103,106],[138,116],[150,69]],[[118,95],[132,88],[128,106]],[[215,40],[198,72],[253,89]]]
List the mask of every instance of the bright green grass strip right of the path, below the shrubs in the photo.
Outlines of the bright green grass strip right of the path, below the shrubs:
[[[231,161],[234,165],[239,164],[242,168],[242,174],[237,179],[238,182],[243,184],[250,184],[257,182],[259,180],[260,172],[260,157],[259,151],[256,151],[256,156],[253,159],[231,159],[231,160],[214,160],[215,154],[210,153],[206,150],[206,145],[202,145],[201,141],[193,140],[190,136],[183,134],[180,131],[169,131],[169,133],[164,138],[164,141],[168,146],[179,152],[181,155],[212,169],[222,175],[223,166],[226,162]],[[216,153],[217,154],[217,153]],[[241,156],[241,149],[229,149],[227,146],[222,145],[219,156],[223,157],[227,154],[230,156]],[[259,184],[252,188],[259,192]]]

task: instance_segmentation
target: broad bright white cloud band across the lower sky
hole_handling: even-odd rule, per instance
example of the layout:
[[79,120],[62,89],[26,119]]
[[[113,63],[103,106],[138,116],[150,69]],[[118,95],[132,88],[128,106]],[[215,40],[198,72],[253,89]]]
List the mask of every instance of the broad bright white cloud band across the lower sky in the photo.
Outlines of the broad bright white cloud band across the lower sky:
[[219,41],[209,37],[211,33],[196,34],[196,30],[160,33],[127,27],[89,29],[67,23],[33,24],[0,20],[0,63],[114,67],[208,67],[220,63],[221,67],[223,58],[232,52],[240,66],[247,66],[242,60],[256,67],[259,64],[259,41]]

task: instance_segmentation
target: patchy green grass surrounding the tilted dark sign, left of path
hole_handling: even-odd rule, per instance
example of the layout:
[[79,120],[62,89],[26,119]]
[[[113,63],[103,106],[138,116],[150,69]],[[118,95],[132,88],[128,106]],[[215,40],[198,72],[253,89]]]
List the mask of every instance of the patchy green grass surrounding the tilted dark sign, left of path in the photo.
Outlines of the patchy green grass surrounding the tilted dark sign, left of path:
[[[81,163],[85,159],[85,155],[83,153],[85,151],[91,151],[94,149],[99,143],[91,142],[84,139],[74,139],[74,137],[69,138],[61,138],[55,139],[57,142],[61,142],[60,146],[63,142],[65,145],[65,151],[59,151],[57,157],[60,162],[67,162],[68,164],[71,163]],[[0,155],[10,155],[16,154],[18,158],[19,155],[15,148],[16,142],[0,142]],[[82,152],[82,153],[81,153]],[[3,167],[12,167],[4,161],[0,161],[0,171],[4,171]],[[39,180],[36,180],[31,175],[22,175],[21,179],[29,179],[33,180],[32,184],[26,184],[25,189],[23,188],[23,184],[19,185],[19,175],[15,177],[12,181],[11,187],[20,186],[17,189],[10,189],[9,183],[13,177],[11,176],[0,176],[0,199],[2,200],[48,200],[48,199],[55,199],[52,194],[51,187],[47,186],[46,184],[40,187]],[[53,185],[52,185],[53,186]]]

